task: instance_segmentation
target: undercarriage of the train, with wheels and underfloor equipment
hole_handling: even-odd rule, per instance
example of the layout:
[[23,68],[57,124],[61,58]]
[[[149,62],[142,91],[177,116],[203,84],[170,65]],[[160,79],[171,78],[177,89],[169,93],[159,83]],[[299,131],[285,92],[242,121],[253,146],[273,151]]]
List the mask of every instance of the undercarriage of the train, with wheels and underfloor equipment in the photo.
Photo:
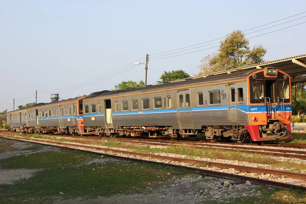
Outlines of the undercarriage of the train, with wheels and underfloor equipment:
[[[35,127],[14,127],[13,132],[20,133],[42,133],[42,134],[65,134],[65,135],[96,135],[100,137],[121,136],[121,137],[139,137],[148,136],[150,138],[186,138],[196,137],[200,134],[206,140],[218,141],[225,139],[227,141],[245,142],[248,138],[253,141],[259,140],[277,140],[288,135],[284,124],[276,120],[270,120],[267,125],[232,125],[232,126],[202,126],[201,130],[182,129],[176,130],[172,126],[118,126],[117,128],[106,128],[102,126],[68,126],[59,128],[56,126],[45,126],[35,129]],[[266,139],[258,139],[258,138]]]

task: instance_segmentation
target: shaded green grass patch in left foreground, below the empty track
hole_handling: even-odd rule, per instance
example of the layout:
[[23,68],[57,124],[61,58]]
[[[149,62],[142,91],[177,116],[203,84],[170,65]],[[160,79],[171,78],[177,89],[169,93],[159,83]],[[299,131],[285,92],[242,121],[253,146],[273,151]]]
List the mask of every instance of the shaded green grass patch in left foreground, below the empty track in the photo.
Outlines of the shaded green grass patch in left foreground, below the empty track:
[[[2,160],[3,168],[45,168],[28,180],[15,185],[1,185],[1,203],[49,202],[75,197],[96,198],[129,193],[143,193],[146,187],[155,188],[173,181],[175,168],[151,164],[120,163],[114,160],[91,165],[79,164],[101,158],[96,154],[68,150],[18,156]],[[105,158],[103,158],[105,159]],[[179,170],[182,172],[182,170]],[[184,171],[184,170],[183,170]],[[128,175],[128,176],[127,176]],[[176,178],[180,175],[176,175]],[[183,175],[182,175],[183,176]]]

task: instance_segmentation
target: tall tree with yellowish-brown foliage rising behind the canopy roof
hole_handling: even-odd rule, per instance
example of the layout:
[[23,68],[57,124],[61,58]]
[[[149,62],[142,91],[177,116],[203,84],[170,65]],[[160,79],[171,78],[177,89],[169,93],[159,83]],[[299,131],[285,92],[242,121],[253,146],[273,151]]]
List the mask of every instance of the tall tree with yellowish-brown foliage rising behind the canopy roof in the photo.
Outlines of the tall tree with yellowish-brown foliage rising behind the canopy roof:
[[263,57],[267,50],[261,45],[250,49],[248,44],[244,33],[239,30],[227,35],[225,40],[220,42],[218,53],[201,60],[202,64],[198,66],[201,70],[199,74],[264,62]]

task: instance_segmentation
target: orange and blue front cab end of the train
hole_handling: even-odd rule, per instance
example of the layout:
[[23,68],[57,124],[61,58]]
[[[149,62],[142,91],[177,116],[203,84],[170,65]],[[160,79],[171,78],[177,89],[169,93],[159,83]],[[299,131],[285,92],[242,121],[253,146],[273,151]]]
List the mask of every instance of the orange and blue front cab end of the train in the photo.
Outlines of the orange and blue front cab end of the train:
[[291,81],[288,74],[267,67],[248,75],[249,124],[253,141],[291,139]]

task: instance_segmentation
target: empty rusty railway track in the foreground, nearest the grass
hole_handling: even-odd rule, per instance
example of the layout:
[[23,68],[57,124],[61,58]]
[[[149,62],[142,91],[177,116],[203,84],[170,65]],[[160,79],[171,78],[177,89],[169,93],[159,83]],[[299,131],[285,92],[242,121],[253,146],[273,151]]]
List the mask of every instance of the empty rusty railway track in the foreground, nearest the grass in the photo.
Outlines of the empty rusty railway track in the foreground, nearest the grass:
[[[302,174],[302,173],[294,173],[294,172],[279,171],[279,170],[257,168],[257,167],[239,166],[239,165],[224,164],[224,163],[205,162],[201,160],[174,158],[174,157],[167,157],[167,156],[160,156],[160,155],[149,155],[149,154],[142,154],[139,152],[123,151],[123,150],[117,150],[117,149],[110,149],[110,148],[89,146],[89,145],[80,145],[80,144],[73,144],[73,143],[46,141],[46,140],[33,139],[33,138],[26,139],[26,138],[11,137],[11,136],[2,136],[2,137],[7,138],[7,139],[35,142],[35,143],[46,144],[46,145],[61,146],[61,147],[71,148],[71,149],[93,151],[93,152],[101,153],[109,157],[120,159],[120,160],[130,160],[130,161],[135,161],[135,162],[146,162],[146,163],[155,163],[155,164],[162,164],[162,165],[168,165],[168,166],[175,166],[175,167],[187,169],[194,173],[205,174],[205,175],[215,176],[215,177],[222,177],[224,179],[231,179],[235,181],[244,181],[244,182],[249,181],[253,184],[273,186],[273,187],[300,189],[306,192],[306,186],[304,184],[296,185],[298,183],[302,184],[306,182],[306,174]],[[106,152],[108,153],[111,152],[111,154],[107,154]],[[152,161],[152,159],[157,160],[157,161]],[[213,170],[209,170],[205,168],[197,168],[197,167],[193,167],[192,165],[201,165],[206,168],[214,167],[214,168],[219,168],[219,169],[224,169],[224,168],[225,169],[235,169],[236,171],[239,171],[239,172],[252,172],[252,173],[257,173],[259,175],[272,174],[273,176],[290,177],[297,181],[293,181],[291,183],[282,183],[282,182],[260,179],[260,178],[256,178],[253,176],[250,177],[250,176],[239,175],[239,174],[213,171]]]

